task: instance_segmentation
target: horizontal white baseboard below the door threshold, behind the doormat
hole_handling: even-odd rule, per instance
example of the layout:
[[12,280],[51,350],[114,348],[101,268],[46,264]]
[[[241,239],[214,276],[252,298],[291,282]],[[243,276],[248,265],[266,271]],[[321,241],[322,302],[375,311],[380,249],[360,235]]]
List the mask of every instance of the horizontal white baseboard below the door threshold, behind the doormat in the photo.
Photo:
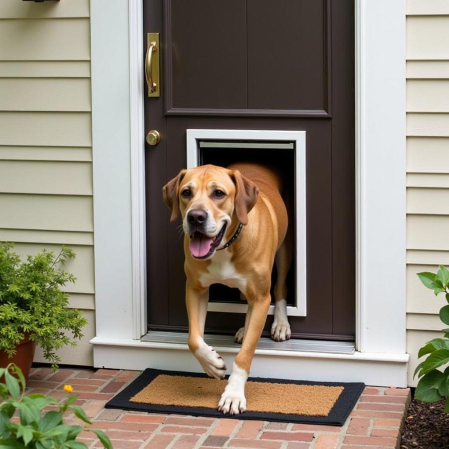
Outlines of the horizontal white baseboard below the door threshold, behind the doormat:
[[[94,337],[94,366],[144,370],[157,368],[202,372],[187,345]],[[238,348],[215,348],[232,366]],[[364,382],[366,385],[407,387],[408,354],[335,354],[257,349],[251,376],[327,382]],[[228,373],[229,374],[229,373]]]

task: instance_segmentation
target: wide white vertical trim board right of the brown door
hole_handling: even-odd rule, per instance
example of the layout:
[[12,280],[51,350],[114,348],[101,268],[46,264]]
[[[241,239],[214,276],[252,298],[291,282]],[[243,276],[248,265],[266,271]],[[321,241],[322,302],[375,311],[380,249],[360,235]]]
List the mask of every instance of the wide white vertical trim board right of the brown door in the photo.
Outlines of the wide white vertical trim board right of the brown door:
[[[356,2],[356,345],[362,352],[406,350],[405,20],[404,0]],[[398,282],[384,282],[392,273]]]

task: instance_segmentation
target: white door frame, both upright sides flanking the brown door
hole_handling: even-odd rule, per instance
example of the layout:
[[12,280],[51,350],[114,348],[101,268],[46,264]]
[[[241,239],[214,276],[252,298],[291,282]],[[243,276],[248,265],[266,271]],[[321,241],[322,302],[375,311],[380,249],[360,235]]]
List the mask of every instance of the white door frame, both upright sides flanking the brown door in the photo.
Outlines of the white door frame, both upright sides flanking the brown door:
[[[338,360],[342,373],[349,369],[343,360],[357,362],[361,380],[404,386],[405,0],[355,3],[357,352],[316,358],[332,369]],[[95,366],[160,360],[149,352],[156,346],[139,341],[146,331],[142,35],[142,0],[91,0]],[[144,352],[139,358],[131,348]],[[306,364],[311,356],[295,357]]]

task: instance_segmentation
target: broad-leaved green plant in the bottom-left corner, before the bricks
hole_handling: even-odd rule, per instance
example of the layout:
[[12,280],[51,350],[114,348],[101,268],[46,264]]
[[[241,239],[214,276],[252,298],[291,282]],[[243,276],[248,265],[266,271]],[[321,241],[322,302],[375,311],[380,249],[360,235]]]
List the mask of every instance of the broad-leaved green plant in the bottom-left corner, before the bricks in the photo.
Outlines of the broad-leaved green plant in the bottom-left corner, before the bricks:
[[[112,449],[109,438],[101,430],[63,423],[63,414],[71,411],[83,422],[92,424],[81,407],[72,405],[77,395],[70,395],[63,402],[40,394],[25,395],[25,379],[20,368],[12,363],[0,368],[0,378],[3,375],[5,383],[0,383],[0,448],[87,449],[84,443],[76,441],[76,437],[88,430],[105,448]],[[45,412],[46,406],[56,410]],[[18,420],[11,420],[16,411]]]

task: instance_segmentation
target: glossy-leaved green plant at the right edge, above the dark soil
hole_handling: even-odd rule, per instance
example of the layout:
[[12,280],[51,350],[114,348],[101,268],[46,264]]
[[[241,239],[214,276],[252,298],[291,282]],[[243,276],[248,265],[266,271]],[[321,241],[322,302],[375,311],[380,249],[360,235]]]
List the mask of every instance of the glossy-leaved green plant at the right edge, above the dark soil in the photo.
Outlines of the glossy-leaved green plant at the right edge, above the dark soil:
[[[437,273],[418,273],[421,282],[434,290],[435,295],[444,293],[449,302],[449,271],[440,265]],[[449,325],[449,305],[440,310],[440,319]],[[428,341],[418,352],[418,358],[427,354],[428,357],[421,362],[414,376],[418,374],[420,381],[415,391],[415,398],[423,402],[436,402],[447,398],[445,412],[449,413],[449,366],[441,371],[438,368],[449,362],[449,328],[443,329],[444,338],[434,338]]]

